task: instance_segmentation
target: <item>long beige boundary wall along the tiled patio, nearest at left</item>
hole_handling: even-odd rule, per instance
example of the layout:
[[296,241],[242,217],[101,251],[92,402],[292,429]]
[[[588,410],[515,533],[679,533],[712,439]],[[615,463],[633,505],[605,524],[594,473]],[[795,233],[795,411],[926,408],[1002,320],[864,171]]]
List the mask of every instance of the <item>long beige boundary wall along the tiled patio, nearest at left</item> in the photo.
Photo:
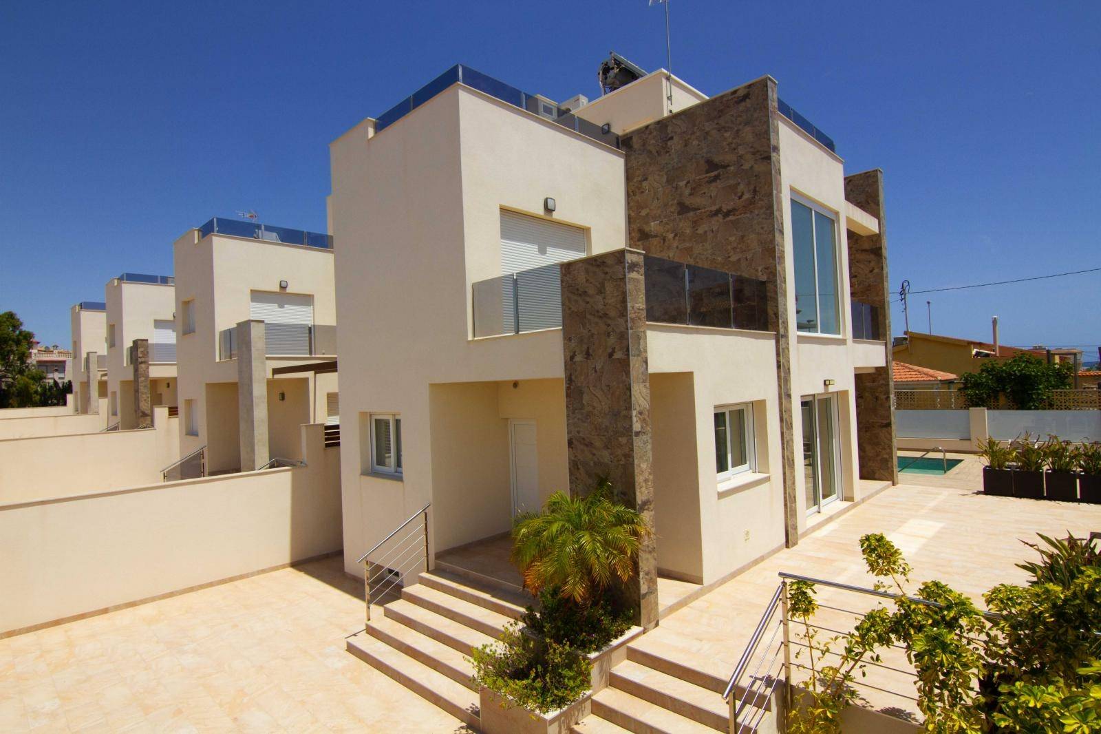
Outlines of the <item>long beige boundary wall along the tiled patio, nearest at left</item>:
[[339,550],[321,428],[303,430],[305,467],[0,500],[0,635]]

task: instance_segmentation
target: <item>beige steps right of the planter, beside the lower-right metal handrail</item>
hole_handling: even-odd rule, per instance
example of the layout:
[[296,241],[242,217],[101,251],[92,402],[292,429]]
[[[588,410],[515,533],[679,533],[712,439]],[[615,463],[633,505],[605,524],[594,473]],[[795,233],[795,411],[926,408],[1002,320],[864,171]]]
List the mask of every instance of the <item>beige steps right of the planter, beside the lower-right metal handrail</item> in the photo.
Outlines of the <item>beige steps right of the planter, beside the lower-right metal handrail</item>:
[[[592,714],[573,727],[575,734],[707,734],[730,731],[730,710],[722,700],[727,680],[686,662],[682,650],[662,656],[629,645],[626,661],[611,670],[608,688],[592,697]],[[746,712],[739,734],[778,732],[772,701]],[[763,711],[762,711],[763,709]]]

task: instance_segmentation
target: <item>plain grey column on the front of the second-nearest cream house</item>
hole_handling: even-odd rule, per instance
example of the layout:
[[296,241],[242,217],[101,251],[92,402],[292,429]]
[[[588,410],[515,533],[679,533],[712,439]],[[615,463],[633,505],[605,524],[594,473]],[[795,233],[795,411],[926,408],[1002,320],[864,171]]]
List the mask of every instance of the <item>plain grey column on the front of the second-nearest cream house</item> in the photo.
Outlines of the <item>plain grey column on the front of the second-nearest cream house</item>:
[[268,345],[264,322],[237,325],[237,408],[241,471],[268,463]]

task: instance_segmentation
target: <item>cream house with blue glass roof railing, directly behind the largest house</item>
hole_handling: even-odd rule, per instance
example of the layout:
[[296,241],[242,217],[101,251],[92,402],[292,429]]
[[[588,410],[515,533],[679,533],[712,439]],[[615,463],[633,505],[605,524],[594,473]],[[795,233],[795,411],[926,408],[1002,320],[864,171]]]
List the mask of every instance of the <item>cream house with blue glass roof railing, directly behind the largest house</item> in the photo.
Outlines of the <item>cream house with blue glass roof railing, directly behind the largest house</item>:
[[301,460],[313,422],[335,444],[333,238],[214,218],[173,250],[181,456],[206,446],[208,473]]

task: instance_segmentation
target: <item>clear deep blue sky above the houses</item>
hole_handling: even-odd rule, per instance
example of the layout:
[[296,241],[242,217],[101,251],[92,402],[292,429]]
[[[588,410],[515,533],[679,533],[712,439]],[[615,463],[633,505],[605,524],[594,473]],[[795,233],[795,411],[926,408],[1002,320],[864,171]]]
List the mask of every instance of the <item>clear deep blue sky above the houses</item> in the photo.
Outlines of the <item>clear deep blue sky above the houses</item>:
[[[893,288],[1101,267],[1101,3],[672,2],[675,74],[771,74],[848,171],[885,171]],[[3,3],[0,311],[67,345],[72,303],[170,272],[215,214],[324,230],[328,142],[451,64],[593,97],[609,50],[653,69],[664,36],[645,0]],[[915,295],[911,324],[928,299],[937,333],[998,314],[1004,343],[1095,355],[1099,293],[1101,272]]]

